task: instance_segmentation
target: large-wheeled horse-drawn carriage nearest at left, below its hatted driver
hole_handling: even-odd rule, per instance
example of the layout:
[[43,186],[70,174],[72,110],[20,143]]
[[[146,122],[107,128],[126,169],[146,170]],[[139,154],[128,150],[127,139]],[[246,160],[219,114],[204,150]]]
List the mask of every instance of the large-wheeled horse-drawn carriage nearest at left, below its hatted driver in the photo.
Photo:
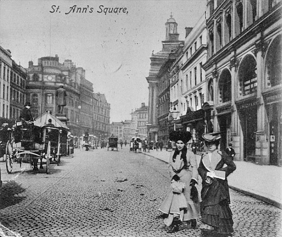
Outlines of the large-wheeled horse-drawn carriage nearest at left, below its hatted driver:
[[13,161],[22,166],[22,160],[30,162],[33,170],[38,170],[38,159],[46,159],[46,173],[49,173],[50,159],[54,155],[59,161],[59,129],[48,127],[39,122],[16,122],[12,127],[11,139],[6,145],[6,168],[11,173]]

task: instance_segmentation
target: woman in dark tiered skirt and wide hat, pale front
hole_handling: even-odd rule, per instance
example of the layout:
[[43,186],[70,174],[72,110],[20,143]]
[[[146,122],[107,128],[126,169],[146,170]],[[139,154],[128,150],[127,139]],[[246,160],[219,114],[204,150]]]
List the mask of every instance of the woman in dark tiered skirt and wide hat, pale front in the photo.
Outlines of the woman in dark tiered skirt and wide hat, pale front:
[[232,211],[227,176],[236,166],[231,157],[217,149],[219,132],[203,134],[208,152],[202,154],[198,167],[203,180],[200,229],[204,236],[229,236],[233,232]]

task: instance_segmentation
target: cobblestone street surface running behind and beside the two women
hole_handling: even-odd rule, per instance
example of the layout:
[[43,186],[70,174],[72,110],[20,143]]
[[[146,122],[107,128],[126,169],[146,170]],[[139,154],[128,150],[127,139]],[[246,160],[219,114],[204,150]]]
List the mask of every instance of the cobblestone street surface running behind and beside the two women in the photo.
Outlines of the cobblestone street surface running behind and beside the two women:
[[[167,233],[157,210],[169,188],[167,164],[141,153],[75,150],[50,174],[14,164],[4,181],[0,222],[22,236],[200,236]],[[233,236],[281,236],[281,210],[230,190]]]

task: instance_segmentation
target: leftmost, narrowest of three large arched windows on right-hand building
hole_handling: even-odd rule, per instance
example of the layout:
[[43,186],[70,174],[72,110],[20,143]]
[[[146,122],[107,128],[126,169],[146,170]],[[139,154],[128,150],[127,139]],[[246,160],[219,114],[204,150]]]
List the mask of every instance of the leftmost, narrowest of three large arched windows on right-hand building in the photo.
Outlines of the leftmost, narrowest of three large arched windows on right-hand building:
[[219,103],[231,101],[231,74],[228,69],[223,70],[218,80]]

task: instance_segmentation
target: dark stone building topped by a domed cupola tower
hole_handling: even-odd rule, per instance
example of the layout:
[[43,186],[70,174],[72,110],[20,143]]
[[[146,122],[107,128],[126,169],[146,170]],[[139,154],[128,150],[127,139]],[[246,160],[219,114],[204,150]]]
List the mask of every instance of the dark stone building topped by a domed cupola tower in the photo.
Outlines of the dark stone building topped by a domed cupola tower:
[[[168,129],[166,126],[169,114],[169,76],[168,67],[174,60],[175,52],[184,46],[184,41],[179,41],[177,23],[171,16],[166,24],[166,37],[162,41],[163,49],[157,53],[152,53],[150,57],[149,76],[146,77],[149,83],[149,120],[148,132],[150,139],[158,140],[159,132],[161,139],[166,139]],[[162,128],[160,131],[160,127]]]

